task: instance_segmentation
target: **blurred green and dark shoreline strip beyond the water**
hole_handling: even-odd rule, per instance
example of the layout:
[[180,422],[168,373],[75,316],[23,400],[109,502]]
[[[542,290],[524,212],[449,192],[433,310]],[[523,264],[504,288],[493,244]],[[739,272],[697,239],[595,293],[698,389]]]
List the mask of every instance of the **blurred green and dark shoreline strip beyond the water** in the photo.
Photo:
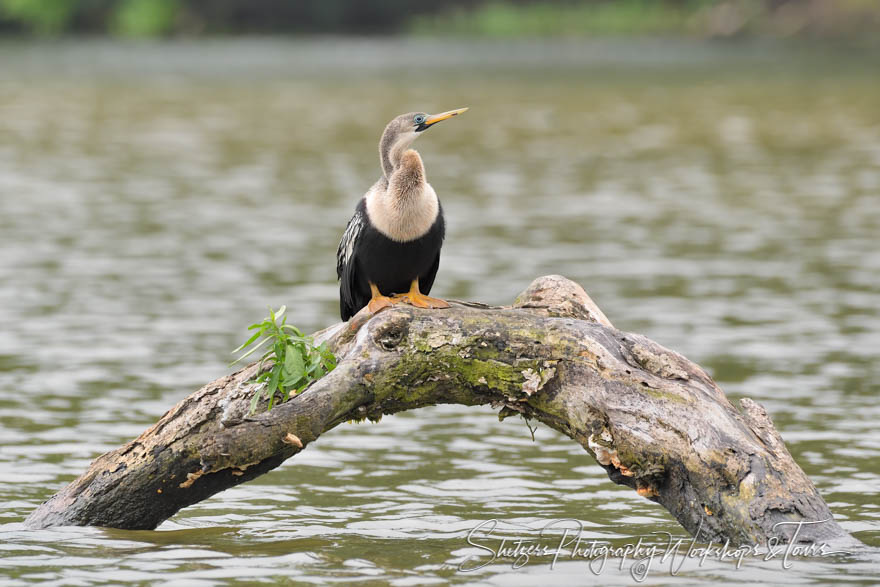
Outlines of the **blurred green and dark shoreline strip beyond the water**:
[[0,35],[876,39],[878,0],[0,0]]

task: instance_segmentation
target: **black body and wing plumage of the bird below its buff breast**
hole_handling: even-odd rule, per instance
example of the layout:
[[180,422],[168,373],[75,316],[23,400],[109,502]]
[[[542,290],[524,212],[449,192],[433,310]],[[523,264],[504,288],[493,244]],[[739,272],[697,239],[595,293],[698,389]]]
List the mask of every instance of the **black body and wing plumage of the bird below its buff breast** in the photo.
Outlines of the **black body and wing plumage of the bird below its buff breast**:
[[362,198],[336,252],[342,319],[348,320],[367,305],[370,283],[376,284],[384,295],[391,295],[406,293],[412,280],[418,278],[421,292],[429,293],[440,265],[445,231],[440,207],[436,220],[423,236],[404,242],[392,240],[373,226],[366,199]]

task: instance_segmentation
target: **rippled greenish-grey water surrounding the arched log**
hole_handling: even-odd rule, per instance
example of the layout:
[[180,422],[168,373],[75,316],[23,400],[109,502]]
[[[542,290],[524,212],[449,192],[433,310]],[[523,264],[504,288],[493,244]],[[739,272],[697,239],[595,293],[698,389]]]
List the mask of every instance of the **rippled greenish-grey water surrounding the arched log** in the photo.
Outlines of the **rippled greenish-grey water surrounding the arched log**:
[[[0,45],[0,576],[629,584],[619,559],[599,578],[456,568],[494,518],[508,536],[560,518],[616,545],[684,536],[568,439],[459,407],[342,426],[156,532],[24,530],[228,372],[267,305],[334,322],[336,243],[384,123],[459,106],[417,144],[449,227],[434,292],[500,304],[541,274],[582,283],[618,327],[764,404],[838,521],[880,546],[878,65],[650,43]],[[709,560],[650,581],[878,569]]]

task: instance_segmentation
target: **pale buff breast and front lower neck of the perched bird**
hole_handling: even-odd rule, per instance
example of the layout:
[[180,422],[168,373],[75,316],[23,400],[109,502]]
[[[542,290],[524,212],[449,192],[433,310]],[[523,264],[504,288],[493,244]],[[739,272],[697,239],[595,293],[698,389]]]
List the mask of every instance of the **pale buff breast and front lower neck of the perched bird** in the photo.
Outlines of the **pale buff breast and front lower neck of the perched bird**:
[[367,193],[367,214],[388,238],[406,242],[424,236],[437,220],[440,203],[426,181],[419,154],[407,149],[397,164]]

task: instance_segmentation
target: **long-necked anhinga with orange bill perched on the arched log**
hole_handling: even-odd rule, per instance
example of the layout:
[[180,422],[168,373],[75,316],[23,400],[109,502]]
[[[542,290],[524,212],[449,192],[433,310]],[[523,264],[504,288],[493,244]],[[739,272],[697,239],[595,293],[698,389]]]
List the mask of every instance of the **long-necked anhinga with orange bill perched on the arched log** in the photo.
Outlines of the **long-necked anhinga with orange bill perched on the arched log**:
[[371,313],[400,302],[449,307],[445,300],[427,295],[440,265],[446,224],[422,158],[410,147],[438,122],[466,110],[410,112],[385,127],[379,140],[382,176],[358,201],[336,250],[343,320],[364,306]]

